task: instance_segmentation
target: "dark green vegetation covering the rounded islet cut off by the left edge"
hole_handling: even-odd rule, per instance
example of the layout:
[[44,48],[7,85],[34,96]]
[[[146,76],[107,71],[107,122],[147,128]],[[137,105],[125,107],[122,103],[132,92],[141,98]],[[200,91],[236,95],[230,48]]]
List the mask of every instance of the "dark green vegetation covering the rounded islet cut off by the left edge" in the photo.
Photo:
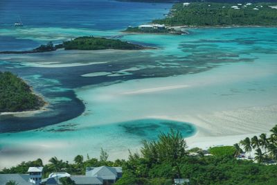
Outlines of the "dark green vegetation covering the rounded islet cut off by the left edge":
[[42,98],[33,94],[24,80],[10,72],[0,71],[0,112],[33,110],[42,105]]

